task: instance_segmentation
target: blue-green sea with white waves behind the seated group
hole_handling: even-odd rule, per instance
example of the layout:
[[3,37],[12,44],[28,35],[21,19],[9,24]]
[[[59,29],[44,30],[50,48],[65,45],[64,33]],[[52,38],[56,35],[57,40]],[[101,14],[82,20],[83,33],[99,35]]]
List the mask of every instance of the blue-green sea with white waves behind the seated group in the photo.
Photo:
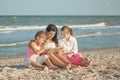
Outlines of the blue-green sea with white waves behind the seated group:
[[72,28],[79,51],[120,47],[120,16],[0,16],[0,57],[26,54],[27,44],[47,25]]

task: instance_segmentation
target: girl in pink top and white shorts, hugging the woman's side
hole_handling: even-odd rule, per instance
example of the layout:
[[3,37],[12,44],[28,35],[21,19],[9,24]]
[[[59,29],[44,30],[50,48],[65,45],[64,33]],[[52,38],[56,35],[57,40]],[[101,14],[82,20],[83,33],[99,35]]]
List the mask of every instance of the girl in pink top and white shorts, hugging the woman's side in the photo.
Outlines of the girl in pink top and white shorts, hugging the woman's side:
[[[32,40],[28,44],[27,54],[25,56],[23,65],[25,65],[26,67],[32,65],[34,67],[44,68],[44,70],[48,70],[48,67],[55,67],[49,60],[48,56],[45,54],[47,52],[47,49],[43,47],[45,40],[45,32],[38,31],[35,35],[35,40]],[[43,63],[46,63],[48,67],[42,65]]]

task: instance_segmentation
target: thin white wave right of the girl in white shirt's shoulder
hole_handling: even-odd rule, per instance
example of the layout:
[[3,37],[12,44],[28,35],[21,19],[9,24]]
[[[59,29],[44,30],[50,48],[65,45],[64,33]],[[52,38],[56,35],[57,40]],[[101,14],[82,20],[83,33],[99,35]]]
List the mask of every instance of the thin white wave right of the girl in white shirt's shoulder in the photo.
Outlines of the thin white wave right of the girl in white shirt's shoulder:
[[96,33],[91,33],[91,34],[78,35],[75,37],[79,38],[79,37],[90,37],[90,36],[101,36],[101,35],[112,35],[112,34],[120,34],[120,32],[112,32],[112,33],[96,32]]

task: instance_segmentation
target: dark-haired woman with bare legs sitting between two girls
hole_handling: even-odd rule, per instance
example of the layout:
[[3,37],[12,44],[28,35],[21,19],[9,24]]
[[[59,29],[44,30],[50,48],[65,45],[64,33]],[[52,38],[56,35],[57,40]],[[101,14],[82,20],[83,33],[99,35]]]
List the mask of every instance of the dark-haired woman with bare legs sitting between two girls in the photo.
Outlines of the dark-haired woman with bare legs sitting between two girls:
[[45,48],[49,49],[48,55],[50,57],[50,60],[54,65],[64,67],[69,70],[71,67],[70,62],[61,55],[62,51],[57,48],[57,27],[54,24],[49,24],[46,28],[46,35],[47,40],[45,43]]

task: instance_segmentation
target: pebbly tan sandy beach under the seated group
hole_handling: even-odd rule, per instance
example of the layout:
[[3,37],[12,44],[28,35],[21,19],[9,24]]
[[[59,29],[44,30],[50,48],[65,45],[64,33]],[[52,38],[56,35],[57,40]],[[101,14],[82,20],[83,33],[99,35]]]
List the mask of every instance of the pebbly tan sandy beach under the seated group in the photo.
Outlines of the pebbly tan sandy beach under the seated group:
[[24,57],[0,59],[0,80],[120,80],[120,48],[82,50],[81,53],[93,63],[70,71],[25,68]]

